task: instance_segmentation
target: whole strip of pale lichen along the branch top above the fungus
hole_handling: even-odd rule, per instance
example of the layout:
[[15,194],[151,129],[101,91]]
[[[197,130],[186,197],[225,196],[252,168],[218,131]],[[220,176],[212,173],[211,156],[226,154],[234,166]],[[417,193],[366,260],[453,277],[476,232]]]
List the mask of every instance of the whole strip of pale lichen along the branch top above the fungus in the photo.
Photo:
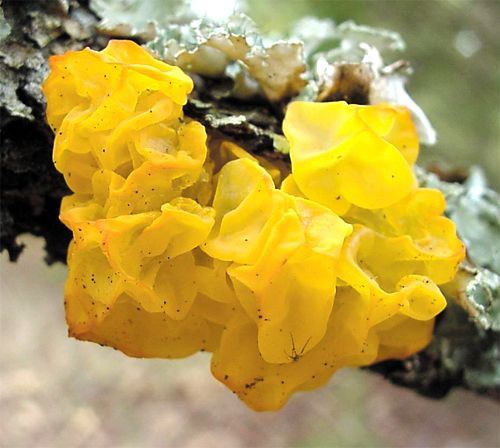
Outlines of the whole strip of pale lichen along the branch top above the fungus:
[[406,93],[406,73],[382,63],[380,54],[390,57],[405,48],[398,33],[306,17],[288,38],[273,40],[245,14],[210,20],[197,16],[191,3],[92,0],[91,8],[101,17],[101,32],[140,37],[163,60],[187,72],[231,79],[226,97],[404,105],[421,142],[435,143],[429,120]]

